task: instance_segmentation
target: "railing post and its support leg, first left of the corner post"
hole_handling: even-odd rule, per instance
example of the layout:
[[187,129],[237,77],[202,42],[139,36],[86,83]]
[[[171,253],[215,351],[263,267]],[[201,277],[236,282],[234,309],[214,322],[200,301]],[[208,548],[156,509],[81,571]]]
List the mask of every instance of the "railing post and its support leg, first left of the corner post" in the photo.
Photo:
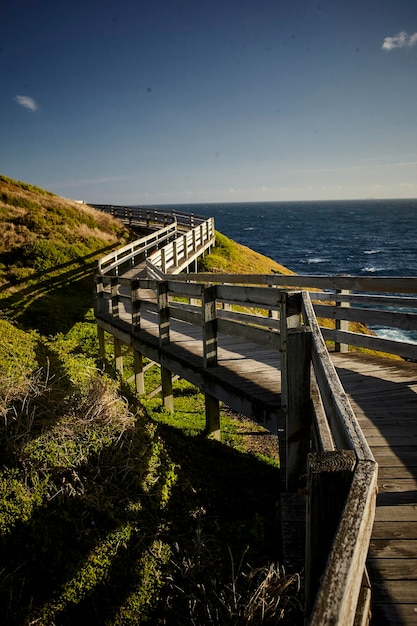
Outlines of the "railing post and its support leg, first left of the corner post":
[[[217,365],[217,318],[216,318],[216,286],[205,287],[201,296],[203,320],[203,366]],[[206,433],[220,441],[220,404],[219,400],[209,393],[204,394],[206,407]]]

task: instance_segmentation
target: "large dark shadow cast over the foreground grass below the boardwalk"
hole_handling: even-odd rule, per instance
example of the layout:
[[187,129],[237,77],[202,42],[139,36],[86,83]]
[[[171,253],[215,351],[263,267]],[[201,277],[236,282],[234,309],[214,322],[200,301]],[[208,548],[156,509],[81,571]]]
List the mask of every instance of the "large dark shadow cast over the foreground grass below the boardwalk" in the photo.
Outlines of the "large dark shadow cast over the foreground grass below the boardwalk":
[[[202,530],[221,555],[213,575],[228,583],[231,555],[253,567],[279,560],[279,470],[171,426],[154,426],[151,435],[141,419],[84,463],[50,468],[56,493],[3,536],[0,611],[10,626],[72,625],[81,617],[97,625],[195,623],[186,594],[175,610],[167,598],[184,582],[175,559],[192,557]],[[159,542],[173,555],[165,565]],[[209,566],[202,562],[196,577]]]

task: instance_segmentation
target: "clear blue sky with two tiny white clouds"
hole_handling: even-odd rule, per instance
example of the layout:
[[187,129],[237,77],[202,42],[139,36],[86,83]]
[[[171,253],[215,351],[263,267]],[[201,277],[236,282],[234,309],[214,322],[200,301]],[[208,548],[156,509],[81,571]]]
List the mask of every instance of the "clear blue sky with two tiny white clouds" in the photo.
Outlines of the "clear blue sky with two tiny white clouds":
[[0,172],[87,202],[417,197],[416,0],[1,0]]

